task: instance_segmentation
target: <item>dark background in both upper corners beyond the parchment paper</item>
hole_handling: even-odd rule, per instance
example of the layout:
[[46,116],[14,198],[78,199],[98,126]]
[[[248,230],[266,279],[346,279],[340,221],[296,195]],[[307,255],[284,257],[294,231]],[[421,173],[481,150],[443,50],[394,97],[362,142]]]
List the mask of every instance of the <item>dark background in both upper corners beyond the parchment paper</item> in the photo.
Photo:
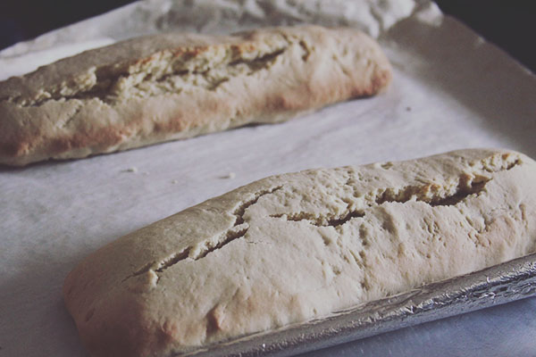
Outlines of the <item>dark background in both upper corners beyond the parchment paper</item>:
[[[37,37],[131,0],[0,0],[0,49]],[[437,0],[443,12],[465,22],[536,72],[536,2]]]

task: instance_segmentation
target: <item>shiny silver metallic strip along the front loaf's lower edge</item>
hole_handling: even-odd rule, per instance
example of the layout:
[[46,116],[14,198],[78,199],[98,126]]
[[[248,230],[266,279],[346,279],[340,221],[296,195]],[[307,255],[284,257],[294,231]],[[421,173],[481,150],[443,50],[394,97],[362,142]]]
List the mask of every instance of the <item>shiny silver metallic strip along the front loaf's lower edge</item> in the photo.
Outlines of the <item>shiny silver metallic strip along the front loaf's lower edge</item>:
[[339,311],[322,320],[242,337],[195,356],[289,356],[536,295],[536,253]]

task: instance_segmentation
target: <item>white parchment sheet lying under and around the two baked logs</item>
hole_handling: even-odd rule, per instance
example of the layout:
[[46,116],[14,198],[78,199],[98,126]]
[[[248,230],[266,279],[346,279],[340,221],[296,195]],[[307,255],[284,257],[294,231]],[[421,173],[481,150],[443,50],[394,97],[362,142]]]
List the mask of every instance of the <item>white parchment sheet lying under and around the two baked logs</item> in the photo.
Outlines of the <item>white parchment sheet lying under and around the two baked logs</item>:
[[255,179],[465,147],[536,157],[534,75],[426,1],[144,1],[4,50],[0,79],[159,30],[300,22],[356,26],[379,37],[394,67],[387,93],[277,125],[0,168],[0,356],[86,356],[61,296],[75,264],[117,237]]

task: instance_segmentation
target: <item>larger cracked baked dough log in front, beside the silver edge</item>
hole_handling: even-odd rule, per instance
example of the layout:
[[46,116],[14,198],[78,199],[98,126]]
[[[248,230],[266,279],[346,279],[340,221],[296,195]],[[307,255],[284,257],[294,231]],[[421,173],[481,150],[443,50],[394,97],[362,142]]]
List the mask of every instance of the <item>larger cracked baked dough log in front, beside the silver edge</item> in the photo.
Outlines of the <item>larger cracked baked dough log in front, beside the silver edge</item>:
[[531,253],[535,182],[498,150],[274,176],[106,245],[63,295],[95,356],[188,352]]

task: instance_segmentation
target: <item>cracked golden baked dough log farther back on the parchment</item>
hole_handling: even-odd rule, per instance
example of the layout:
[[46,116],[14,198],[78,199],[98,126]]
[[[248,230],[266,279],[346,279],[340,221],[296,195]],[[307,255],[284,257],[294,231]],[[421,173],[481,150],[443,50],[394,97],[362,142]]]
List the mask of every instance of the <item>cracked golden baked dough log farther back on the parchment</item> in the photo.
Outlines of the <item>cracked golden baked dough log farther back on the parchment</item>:
[[86,157],[288,120],[389,84],[356,29],[139,37],[0,83],[0,163]]

